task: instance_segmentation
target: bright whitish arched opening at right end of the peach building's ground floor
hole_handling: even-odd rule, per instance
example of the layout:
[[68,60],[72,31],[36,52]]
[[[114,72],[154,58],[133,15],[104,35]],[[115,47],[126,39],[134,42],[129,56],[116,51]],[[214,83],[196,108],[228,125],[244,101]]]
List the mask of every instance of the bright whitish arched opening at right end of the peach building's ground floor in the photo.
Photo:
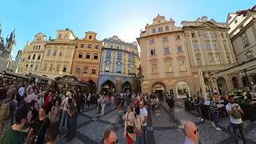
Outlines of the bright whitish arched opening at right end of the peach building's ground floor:
[[176,93],[177,93],[177,98],[186,98],[190,97],[190,86],[187,82],[178,82],[176,84]]

